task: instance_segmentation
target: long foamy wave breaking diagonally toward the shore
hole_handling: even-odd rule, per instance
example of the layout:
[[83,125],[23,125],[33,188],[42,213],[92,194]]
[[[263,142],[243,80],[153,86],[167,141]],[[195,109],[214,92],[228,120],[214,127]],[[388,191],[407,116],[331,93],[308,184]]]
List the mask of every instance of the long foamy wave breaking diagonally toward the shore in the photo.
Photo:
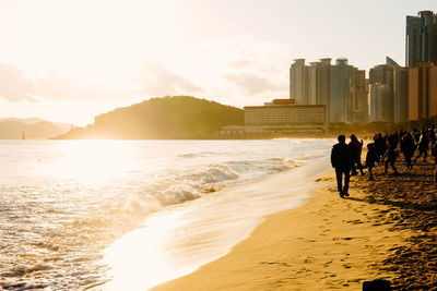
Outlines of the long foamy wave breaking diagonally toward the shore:
[[113,231],[117,231],[114,228],[120,228],[120,231],[126,231],[126,228],[131,229],[133,220],[141,222],[141,218],[165,206],[199,198],[221,189],[221,183],[238,178],[239,173],[223,165],[176,172],[162,177],[139,191],[116,193],[98,204],[90,216],[78,218],[74,227],[111,228]]

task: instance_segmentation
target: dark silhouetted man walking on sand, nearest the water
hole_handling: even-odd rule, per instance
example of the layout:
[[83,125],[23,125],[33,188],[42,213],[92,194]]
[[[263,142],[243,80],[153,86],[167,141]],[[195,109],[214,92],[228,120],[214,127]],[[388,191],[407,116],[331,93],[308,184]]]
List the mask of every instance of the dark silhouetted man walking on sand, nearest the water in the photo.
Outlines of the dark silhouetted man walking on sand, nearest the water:
[[[339,143],[332,147],[331,150],[331,165],[335,168],[336,175],[336,187],[340,192],[340,197],[349,196],[349,180],[351,177],[351,167],[353,162],[353,156],[351,147],[346,145],[346,137],[340,135],[338,138]],[[344,175],[344,186],[342,180]]]

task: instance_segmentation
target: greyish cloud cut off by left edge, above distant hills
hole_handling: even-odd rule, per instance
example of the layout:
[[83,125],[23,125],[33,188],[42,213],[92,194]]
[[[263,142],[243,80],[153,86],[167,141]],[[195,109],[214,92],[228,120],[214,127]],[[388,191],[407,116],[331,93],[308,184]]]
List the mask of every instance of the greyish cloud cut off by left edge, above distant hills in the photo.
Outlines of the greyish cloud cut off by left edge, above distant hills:
[[20,68],[0,63],[0,97],[11,102],[36,101],[34,84]]

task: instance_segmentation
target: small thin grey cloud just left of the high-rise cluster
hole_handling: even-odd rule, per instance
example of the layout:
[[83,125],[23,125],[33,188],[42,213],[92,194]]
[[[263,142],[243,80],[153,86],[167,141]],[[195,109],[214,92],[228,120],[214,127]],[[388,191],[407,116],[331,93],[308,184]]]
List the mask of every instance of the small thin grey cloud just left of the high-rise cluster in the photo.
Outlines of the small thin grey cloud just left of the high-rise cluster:
[[276,85],[269,78],[258,76],[253,73],[225,74],[224,77],[234,83],[238,89],[250,95],[287,89],[286,86]]

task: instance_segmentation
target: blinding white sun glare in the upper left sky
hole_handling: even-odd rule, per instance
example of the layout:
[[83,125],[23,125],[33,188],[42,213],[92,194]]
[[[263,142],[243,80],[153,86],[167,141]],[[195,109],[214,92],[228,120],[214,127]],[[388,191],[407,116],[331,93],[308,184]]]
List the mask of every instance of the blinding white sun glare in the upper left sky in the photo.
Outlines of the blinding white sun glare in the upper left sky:
[[17,1],[13,9],[10,40],[20,62],[106,85],[126,82],[174,37],[169,0]]

